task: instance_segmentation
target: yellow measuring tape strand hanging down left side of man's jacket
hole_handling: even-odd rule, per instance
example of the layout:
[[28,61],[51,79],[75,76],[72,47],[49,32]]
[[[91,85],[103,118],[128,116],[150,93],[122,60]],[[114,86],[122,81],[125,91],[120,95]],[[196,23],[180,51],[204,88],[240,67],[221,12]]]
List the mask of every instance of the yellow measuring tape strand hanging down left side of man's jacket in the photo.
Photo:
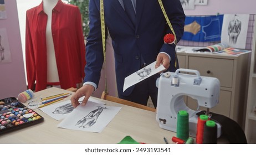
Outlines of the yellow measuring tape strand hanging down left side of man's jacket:
[[100,27],[103,46],[104,66],[105,66],[105,93],[107,94],[107,80],[106,80],[106,34],[105,34],[105,18],[104,18],[104,3],[100,0]]

